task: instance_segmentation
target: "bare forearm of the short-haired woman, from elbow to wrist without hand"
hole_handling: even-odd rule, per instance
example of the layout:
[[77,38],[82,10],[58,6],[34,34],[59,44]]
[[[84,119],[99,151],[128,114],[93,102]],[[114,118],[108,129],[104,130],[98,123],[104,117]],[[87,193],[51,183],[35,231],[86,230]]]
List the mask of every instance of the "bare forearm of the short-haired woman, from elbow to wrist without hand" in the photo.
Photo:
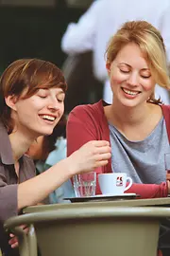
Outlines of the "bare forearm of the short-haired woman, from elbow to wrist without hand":
[[19,184],[18,210],[38,204],[49,193],[55,191],[65,180],[72,176],[71,166],[72,163],[70,163],[69,158],[64,159],[46,172]]

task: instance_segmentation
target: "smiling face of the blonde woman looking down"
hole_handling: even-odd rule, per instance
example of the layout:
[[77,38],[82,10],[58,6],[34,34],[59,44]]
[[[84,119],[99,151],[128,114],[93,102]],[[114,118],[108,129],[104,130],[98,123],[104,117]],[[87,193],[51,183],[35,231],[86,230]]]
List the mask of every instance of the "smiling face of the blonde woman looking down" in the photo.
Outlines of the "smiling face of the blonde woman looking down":
[[155,81],[139,46],[129,43],[107,64],[114,103],[133,107],[148,100]]

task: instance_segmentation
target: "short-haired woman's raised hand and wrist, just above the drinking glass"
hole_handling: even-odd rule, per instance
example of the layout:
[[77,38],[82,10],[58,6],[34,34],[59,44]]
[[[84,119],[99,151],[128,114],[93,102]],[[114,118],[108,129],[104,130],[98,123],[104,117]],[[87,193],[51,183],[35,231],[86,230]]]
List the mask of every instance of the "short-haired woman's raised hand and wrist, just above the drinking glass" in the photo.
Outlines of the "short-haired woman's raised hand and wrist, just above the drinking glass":
[[87,142],[69,156],[72,174],[92,172],[97,167],[107,165],[110,152],[110,143],[106,140]]

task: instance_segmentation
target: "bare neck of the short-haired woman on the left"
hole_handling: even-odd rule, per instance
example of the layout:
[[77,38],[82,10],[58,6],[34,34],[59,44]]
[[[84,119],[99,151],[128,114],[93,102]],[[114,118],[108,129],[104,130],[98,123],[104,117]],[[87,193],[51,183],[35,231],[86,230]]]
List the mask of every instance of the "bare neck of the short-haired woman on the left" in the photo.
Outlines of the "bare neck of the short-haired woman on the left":
[[25,134],[14,131],[9,135],[14,161],[17,162],[26,153],[36,137],[26,137]]

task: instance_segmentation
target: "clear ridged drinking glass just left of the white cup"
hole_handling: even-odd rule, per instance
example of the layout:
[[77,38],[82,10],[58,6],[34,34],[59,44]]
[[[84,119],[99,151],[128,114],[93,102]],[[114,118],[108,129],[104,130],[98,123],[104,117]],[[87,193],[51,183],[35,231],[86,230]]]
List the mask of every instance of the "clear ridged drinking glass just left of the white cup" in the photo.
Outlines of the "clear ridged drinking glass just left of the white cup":
[[76,174],[73,177],[76,197],[95,195],[96,173]]

